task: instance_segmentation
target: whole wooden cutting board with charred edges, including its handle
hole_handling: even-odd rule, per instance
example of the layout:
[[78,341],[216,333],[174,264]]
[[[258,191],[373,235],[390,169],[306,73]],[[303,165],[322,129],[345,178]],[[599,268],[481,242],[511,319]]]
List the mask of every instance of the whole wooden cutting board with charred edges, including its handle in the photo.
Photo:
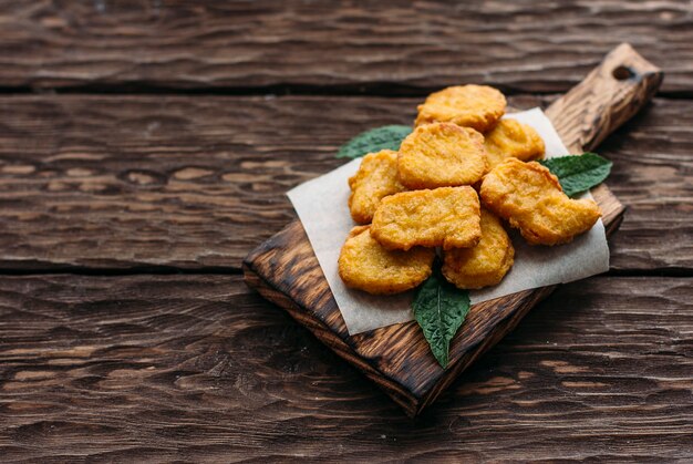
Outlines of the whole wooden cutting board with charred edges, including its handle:
[[[660,69],[629,44],[621,44],[546,114],[571,153],[593,149],[648,103],[662,78]],[[594,188],[592,195],[602,209],[607,234],[613,234],[625,208],[606,185]],[[244,260],[244,272],[250,287],[363,371],[410,415],[431,404],[555,288],[521,291],[472,307],[451,343],[449,364],[443,370],[414,321],[349,336],[298,220],[252,250]]]

